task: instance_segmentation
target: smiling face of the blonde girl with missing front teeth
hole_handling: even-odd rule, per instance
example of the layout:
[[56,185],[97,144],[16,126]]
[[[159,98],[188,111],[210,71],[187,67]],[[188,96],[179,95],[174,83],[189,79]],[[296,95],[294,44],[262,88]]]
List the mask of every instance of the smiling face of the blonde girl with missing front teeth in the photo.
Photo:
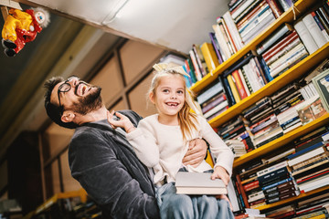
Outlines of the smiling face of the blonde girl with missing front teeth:
[[175,75],[160,78],[154,94],[150,94],[160,116],[177,116],[185,103],[185,83],[183,78]]

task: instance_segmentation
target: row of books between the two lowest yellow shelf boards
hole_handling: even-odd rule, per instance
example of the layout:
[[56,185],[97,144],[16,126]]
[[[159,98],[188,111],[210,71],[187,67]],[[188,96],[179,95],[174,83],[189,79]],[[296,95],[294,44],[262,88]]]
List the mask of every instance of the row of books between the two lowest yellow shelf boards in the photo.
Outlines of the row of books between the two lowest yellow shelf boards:
[[[281,148],[260,161],[249,163],[232,177],[228,191],[237,213],[244,208],[257,208],[268,203],[307,193],[329,184],[328,126],[292,141],[290,147]],[[289,145],[287,145],[289,146]],[[289,211],[289,215],[309,213],[304,206]],[[324,210],[324,209],[322,209]],[[267,213],[268,217],[286,218],[287,212]],[[277,217],[277,216],[281,217]],[[284,216],[282,216],[284,215]]]

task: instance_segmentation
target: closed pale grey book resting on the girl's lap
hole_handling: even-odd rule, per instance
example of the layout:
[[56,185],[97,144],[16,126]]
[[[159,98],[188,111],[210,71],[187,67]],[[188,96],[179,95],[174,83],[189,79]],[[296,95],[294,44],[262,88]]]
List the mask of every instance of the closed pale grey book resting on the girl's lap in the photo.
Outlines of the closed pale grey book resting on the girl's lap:
[[184,194],[227,194],[228,190],[220,179],[211,180],[210,172],[178,172],[175,179],[177,193]]

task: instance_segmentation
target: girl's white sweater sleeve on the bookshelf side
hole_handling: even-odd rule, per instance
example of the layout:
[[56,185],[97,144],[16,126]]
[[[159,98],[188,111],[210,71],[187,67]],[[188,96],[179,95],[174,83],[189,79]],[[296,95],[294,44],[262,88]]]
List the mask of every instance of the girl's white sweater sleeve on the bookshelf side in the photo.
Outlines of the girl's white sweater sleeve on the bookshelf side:
[[209,143],[210,151],[217,158],[216,166],[224,167],[228,174],[232,174],[234,161],[233,152],[228,148],[225,142],[218,136],[204,118],[199,118],[202,137]]

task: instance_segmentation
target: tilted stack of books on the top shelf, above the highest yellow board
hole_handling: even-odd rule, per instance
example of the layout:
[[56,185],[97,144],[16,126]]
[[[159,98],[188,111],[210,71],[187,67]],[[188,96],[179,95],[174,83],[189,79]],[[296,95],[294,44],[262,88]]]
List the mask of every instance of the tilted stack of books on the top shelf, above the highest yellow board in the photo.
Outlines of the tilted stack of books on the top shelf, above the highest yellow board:
[[276,19],[265,0],[236,1],[235,4],[228,4],[228,10],[244,44],[248,44]]

